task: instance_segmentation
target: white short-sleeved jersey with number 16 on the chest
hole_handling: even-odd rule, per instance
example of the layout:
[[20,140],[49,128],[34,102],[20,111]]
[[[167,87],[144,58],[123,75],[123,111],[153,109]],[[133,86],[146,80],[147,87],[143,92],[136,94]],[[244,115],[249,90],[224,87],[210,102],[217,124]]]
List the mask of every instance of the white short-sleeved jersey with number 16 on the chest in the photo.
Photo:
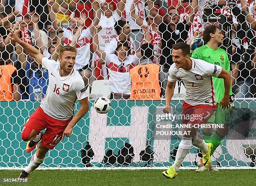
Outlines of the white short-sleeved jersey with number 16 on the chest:
[[82,76],[72,69],[67,76],[59,74],[59,62],[43,58],[42,67],[49,72],[46,96],[41,101],[43,111],[58,120],[67,120],[74,114],[74,103],[88,97]]

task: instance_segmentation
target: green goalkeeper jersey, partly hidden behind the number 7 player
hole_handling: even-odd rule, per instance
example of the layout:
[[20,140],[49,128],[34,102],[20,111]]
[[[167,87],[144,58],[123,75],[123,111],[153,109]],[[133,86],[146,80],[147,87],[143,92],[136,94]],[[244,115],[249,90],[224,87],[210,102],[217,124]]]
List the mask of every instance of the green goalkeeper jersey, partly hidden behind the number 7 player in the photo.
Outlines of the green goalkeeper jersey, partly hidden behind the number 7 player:
[[[203,45],[194,50],[191,58],[205,60],[208,63],[212,63],[214,65],[220,65],[222,68],[224,68],[230,73],[230,63],[228,59],[228,54],[225,52],[225,50],[221,48],[214,50],[210,48],[208,45]],[[214,83],[214,89],[216,92],[217,103],[220,103],[225,93],[224,80],[215,77],[212,77],[212,79]],[[229,95],[232,95],[231,85]]]

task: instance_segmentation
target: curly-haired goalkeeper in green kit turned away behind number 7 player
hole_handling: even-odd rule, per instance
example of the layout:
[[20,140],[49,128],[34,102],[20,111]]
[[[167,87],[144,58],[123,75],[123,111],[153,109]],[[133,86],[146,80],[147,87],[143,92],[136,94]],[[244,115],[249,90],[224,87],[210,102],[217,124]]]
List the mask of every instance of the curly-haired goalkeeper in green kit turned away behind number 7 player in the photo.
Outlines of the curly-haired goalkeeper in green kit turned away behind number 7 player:
[[[223,42],[224,35],[221,33],[220,29],[216,25],[208,25],[203,33],[203,40],[206,45],[196,48],[191,58],[205,60],[208,63],[215,65],[220,65],[222,68],[230,72],[230,63],[228,59],[228,54],[225,50],[219,48]],[[195,48],[197,43],[194,41],[198,38],[194,38],[191,42],[190,48]],[[205,142],[212,143],[213,148],[210,155],[213,154],[215,149],[220,145],[221,140],[228,133],[228,128],[230,123],[230,108],[222,109],[219,107],[220,100],[224,96],[224,81],[220,78],[213,78],[213,84],[216,92],[217,100],[217,110],[212,115],[212,117],[207,121],[207,123],[225,124],[224,128],[216,128],[215,133],[212,134],[213,128],[203,128],[203,138]],[[232,95],[231,85],[230,85],[230,96]],[[231,98],[231,97],[230,97]],[[201,161],[198,163],[199,168],[197,171],[218,171],[217,168],[213,166],[205,167]]]

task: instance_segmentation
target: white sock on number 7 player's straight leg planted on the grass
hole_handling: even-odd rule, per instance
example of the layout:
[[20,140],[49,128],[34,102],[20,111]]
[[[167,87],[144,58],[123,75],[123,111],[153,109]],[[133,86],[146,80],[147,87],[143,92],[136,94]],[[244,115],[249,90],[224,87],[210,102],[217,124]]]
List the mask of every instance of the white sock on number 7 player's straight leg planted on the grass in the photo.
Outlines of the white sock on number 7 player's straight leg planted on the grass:
[[179,171],[179,167],[182,164],[182,161],[187,156],[187,153],[189,152],[192,144],[192,139],[182,139],[182,141],[179,143],[179,148],[177,150],[176,158],[173,163],[173,168],[176,171]]

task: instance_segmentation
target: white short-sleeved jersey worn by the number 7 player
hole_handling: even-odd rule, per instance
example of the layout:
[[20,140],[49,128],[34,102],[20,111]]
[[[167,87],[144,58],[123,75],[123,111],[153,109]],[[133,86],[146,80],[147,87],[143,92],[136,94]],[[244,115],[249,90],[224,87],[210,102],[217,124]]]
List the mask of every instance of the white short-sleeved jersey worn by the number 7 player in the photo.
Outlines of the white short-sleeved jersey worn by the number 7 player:
[[176,68],[175,63],[169,68],[168,81],[182,79],[185,85],[184,101],[192,106],[216,104],[216,96],[212,76],[218,77],[222,68],[203,60],[192,59],[192,68],[187,71]]

